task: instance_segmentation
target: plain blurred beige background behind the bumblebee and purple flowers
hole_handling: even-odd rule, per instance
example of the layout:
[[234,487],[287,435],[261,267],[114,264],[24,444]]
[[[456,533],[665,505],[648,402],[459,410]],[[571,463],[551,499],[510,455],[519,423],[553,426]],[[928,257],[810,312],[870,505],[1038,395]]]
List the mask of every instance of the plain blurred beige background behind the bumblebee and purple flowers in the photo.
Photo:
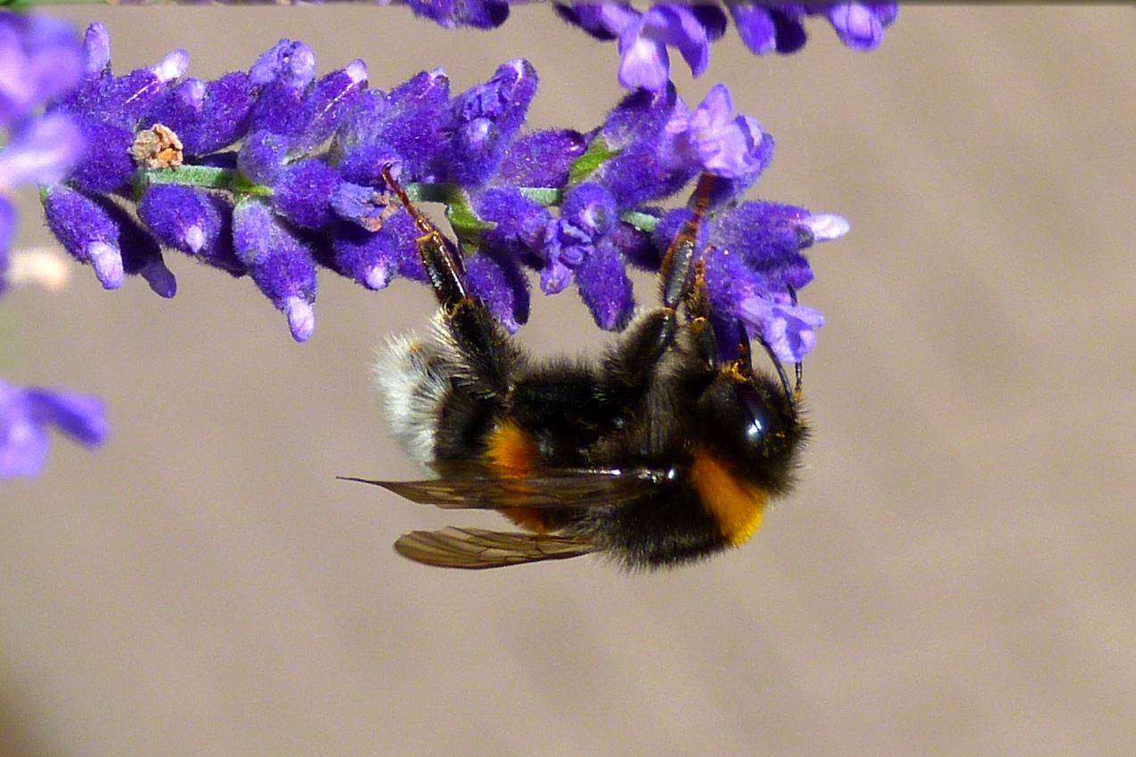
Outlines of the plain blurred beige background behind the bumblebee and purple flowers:
[[[534,127],[590,127],[616,51],[515,11],[67,8],[120,70],[282,36],[379,87],[515,56]],[[488,525],[336,474],[411,477],[368,361],[426,289],[323,276],[296,345],[245,280],[170,256],[173,301],[77,269],[0,303],[0,371],[94,392],[114,438],[0,485],[0,754],[1127,755],[1136,739],[1136,12],[905,7],[874,54],[827,26],[727,82],[778,142],[760,193],[847,216],[804,293],[800,489],[745,548],[654,575],[425,569],[412,528]],[[47,239],[32,199],[20,241]],[[651,295],[648,279],[638,292]],[[538,354],[602,336],[535,297]],[[9,346],[14,345],[14,346]]]

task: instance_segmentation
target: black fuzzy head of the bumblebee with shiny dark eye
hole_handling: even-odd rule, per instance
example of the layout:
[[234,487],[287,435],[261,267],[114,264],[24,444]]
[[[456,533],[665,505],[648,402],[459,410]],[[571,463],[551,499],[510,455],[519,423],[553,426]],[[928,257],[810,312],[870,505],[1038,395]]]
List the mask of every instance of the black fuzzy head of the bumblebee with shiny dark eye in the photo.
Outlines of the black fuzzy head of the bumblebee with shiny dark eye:
[[700,443],[769,494],[793,482],[808,430],[799,393],[737,363],[719,371],[698,398]]

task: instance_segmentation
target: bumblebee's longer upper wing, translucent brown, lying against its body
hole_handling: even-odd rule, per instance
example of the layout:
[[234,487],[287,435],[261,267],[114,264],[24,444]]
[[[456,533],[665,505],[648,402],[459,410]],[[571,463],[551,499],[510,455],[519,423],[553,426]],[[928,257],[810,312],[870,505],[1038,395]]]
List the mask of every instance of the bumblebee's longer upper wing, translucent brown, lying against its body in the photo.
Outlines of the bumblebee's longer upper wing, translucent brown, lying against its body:
[[423,481],[341,478],[381,486],[411,502],[446,510],[583,510],[638,501],[666,480],[666,474],[652,469],[558,469],[517,479],[487,477],[484,471]]

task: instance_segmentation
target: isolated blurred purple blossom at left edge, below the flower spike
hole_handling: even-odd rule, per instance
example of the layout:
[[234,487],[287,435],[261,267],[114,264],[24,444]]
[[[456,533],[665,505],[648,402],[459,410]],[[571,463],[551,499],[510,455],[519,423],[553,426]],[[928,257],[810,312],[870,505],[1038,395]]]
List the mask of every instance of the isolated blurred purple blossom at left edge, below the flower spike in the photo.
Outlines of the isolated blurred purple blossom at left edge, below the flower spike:
[[0,479],[43,469],[50,427],[87,447],[102,444],[109,432],[97,397],[0,381]]

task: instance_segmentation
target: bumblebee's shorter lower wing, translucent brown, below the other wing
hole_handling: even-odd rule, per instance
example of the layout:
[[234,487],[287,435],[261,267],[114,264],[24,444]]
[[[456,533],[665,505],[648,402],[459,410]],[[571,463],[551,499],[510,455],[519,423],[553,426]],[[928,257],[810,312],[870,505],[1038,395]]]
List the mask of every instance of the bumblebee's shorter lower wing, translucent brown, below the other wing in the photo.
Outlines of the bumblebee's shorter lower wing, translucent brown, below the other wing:
[[479,570],[566,560],[586,555],[596,548],[575,537],[451,527],[441,531],[411,531],[399,537],[394,549],[403,557],[426,565]]

